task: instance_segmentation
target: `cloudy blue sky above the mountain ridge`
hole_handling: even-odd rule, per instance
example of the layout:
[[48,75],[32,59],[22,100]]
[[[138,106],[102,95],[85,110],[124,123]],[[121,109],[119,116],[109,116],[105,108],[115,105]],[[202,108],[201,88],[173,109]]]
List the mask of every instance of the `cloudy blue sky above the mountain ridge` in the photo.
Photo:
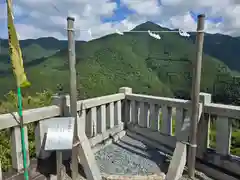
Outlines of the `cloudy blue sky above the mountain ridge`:
[[[54,5],[61,10],[59,13],[53,8],[52,0],[49,0],[49,2],[48,0],[44,0],[44,2],[18,0],[14,1],[14,14],[17,30],[22,38],[35,38],[37,37],[36,34],[46,36],[49,32],[52,32],[52,36],[64,38],[64,33],[62,29],[60,30],[60,28],[63,28],[63,25],[60,26],[60,24],[63,23],[59,22],[55,27],[52,27],[53,25],[47,20],[52,17],[63,21],[60,19],[66,18],[66,9],[70,9],[74,15],[78,16],[77,21],[81,22],[79,27],[94,29],[93,34],[95,34],[96,38],[114,32],[114,28],[125,30],[126,28],[122,25],[123,22],[130,24],[130,27],[134,27],[144,21],[153,21],[165,27],[192,31],[196,28],[197,16],[200,13],[206,14],[206,27],[210,33],[224,33],[226,32],[225,29],[233,34],[238,32],[236,25],[229,24],[229,22],[234,22],[230,19],[233,19],[234,15],[231,16],[229,13],[234,4],[230,4],[230,0],[221,1],[224,1],[225,4],[221,4],[220,1],[217,2],[216,0],[208,1],[207,4],[201,3],[199,0],[89,0],[88,3],[83,0],[79,0],[79,2],[74,0],[72,2],[71,0],[54,1],[56,3]],[[228,1],[229,4],[227,4]],[[7,24],[6,17],[4,17],[6,16],[6,4],[4,0],[0,0],[0,2],[0,37],[6,37]],[[87,5],[92,10],[88,17],[83,16],[84,8]],[[66,8],[66,6],[68,7]],[[220,6],[223,9],[220,9]],[[37,13],[42,16],[37,17]],[[46,17],[44,18],[44,16]],[[101,32],[97,32],[97,27]],[[233,28],[233,31],[231,28]],[[80,39],[87,38],[86,35],[81,36]]]

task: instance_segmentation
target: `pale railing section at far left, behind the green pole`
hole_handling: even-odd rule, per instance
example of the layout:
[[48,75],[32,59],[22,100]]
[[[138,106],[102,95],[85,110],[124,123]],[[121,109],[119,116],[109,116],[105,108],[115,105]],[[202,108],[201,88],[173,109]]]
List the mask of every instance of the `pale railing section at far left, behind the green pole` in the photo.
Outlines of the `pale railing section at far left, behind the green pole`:
[[[60,108],[56,105],[30,109],[23,112],[24,114],[24,128],[25,128],[25,142],[27,149],[27,158],[29,164],[29,143],[28,143],[28,123],[35,123],[35,145],[36,145],[36,154],[41,147],[41,129],[39,127],[39,121],[57,117],[61,115]],[[20,171],[23,169],[23,161],[22,161],[22,147],[21,147],[21,135],[19,128],[19,118],[17,113],[9,113],[0,115],[0,130],[4,130],[10,128],[10,147],[11,147],[11,160],[12,160],[12,168]],[[4,153],[4,152],[1,152]],[[5,154],[3,154],[5,155]],[[2,175],[2,171],[0,169],[0,174]],[[0,179],[2,177],[0,176]]]

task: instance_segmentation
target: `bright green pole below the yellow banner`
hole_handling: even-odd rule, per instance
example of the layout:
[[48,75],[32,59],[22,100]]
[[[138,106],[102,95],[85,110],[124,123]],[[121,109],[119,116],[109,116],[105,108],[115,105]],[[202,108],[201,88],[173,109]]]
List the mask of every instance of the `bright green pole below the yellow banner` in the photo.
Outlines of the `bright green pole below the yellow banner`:
[[22,93],[21,88],[17,88],[17,97],[18,97],[18,114],[20,118],[20,129],[21,129],[21,144],[22,144],[22,153],[23,153],[23,168],[24,168],[24,179],[29,180],[28,176],[28,167],[27,167],[27,151],[25,144],[25,133],[23,127],[23,108],[22,108]]

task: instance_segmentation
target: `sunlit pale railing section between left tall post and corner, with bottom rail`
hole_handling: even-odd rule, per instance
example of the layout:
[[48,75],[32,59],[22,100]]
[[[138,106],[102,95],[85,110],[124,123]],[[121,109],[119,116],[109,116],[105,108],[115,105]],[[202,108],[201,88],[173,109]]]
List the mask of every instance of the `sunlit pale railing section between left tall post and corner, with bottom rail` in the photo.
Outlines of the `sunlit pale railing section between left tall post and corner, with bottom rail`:
[[[78,101],[77,110],[80,126],[85,126],[85,133],[94,151],[125,135],[122,122],[122,103],[125,88],[118,94]],[[69,104],[68,104],[69,105]]]

